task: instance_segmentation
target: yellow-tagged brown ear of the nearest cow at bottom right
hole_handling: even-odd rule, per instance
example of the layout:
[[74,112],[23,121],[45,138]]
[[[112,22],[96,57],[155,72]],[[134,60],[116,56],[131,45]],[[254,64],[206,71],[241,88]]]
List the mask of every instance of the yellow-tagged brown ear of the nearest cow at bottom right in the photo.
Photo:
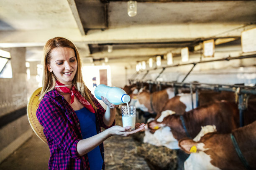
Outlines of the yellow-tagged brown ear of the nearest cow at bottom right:
[[179,140],[179,148],[185,153],[196,153],[197,152],[197,143],[190,138],[183,138]]

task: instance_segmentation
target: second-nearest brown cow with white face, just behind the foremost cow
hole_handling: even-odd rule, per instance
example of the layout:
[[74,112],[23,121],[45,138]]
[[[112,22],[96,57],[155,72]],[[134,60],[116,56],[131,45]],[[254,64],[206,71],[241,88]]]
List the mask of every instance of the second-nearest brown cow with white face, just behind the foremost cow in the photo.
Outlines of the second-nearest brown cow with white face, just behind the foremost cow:
[[[173,114],[148,122],[144,143],[163,145],[179,149],[178,141],[187,137],[181,115]],[[192,137],[200,132],[201,126],[215,125],[218,132],[230,133],[239,127],[239,110],[235,102],[220,101],[197,107],[183,114],[187,133]]]

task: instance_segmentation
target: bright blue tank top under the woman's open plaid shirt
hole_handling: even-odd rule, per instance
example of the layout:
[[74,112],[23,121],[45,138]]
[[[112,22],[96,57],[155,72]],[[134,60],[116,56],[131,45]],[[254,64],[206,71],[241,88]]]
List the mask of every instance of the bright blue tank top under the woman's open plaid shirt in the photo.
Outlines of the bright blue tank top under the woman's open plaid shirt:
[[[82,138],[86,139],[97,135],[95,114],[85,107],[81,110],[76,110],[75,112],[80,122]],[[103,159],[100,154],[100,146],[91,150],[87,155],[90,163],[90,170],[101,170]]]

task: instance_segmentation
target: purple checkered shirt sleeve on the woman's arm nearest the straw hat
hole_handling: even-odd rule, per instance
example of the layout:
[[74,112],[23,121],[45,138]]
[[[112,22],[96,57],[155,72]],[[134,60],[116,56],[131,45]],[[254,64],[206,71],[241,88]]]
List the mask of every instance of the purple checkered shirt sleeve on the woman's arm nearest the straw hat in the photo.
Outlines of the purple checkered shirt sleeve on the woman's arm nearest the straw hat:
[[77,143],[79,139],[72,120],[73,112],[65,113],[64,107],[53,98],[44,97],[39,104],[37,117],[44,127],[47,140],[54,141],[58,147],[74,159],[79,159]]

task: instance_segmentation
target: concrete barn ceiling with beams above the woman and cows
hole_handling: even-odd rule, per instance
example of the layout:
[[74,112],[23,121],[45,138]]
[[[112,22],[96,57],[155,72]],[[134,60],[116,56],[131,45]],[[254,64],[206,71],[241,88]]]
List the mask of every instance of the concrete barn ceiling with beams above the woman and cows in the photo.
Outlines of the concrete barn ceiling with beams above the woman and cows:
[[[252,0],[137,0],[137,15],[127,15],[127,0],[1,0],[0,47],[27,47],[38,61],[52,37],[74,42],[85,62],[147,60],[203,40],[235,38],[256,27]],[[107,46],[113,52],[107,52]]]

